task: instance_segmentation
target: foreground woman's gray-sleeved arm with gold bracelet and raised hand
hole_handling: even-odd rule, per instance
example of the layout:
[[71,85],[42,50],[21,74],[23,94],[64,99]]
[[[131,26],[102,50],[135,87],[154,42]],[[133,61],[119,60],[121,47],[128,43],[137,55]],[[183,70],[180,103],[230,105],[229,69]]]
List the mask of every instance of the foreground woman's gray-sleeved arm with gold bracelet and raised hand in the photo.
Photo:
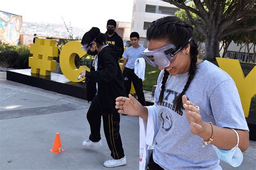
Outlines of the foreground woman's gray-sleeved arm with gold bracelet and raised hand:
[[201,119],[200,110],[195,107],[193,101],[187,101],[183,96],[183,106],[186,117],[190,123],[191,132],[198,134],[205,141],[211,138],[212,144],[221,149],[231,149],[237,144],[237,136],[233,128],[239,134],[239,148],[245,151],[249,146],[249,133],[239,93],[232,80],[226,80],[215,87],[210,96],[211,110],[216,122],[213,125]]

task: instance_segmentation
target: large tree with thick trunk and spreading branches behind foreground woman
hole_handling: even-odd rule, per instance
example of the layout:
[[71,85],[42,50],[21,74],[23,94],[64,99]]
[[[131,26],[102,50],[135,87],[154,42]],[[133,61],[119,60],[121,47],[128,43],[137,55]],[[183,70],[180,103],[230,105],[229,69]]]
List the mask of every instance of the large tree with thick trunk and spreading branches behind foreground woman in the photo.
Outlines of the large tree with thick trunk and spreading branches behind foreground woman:
[[219,41],[235,33],[256,30],[255,0],[164,0],[185,10],[205,37],[206,58],[219,57]]

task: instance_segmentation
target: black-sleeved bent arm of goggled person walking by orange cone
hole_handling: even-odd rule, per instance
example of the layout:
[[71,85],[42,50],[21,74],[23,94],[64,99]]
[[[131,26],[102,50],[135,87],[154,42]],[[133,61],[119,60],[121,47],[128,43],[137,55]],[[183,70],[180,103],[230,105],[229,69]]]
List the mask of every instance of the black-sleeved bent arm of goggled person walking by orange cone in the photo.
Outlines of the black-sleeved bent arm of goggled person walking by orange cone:
[[103,64],[103,69],[99,71],[86,71],[85,76],[90,78],[91,81],[111,81],[117,75],[117,62],[112,56],[113,53],[110,51],[104,51],[100,57]]

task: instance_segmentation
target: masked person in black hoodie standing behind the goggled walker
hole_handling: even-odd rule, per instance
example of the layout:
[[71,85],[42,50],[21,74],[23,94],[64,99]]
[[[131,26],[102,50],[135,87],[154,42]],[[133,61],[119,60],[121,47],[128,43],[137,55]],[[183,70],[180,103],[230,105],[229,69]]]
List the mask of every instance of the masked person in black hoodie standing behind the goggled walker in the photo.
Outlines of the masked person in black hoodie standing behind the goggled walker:
[[124,53],[124,43],[123,43],[123,39],[117,34],[116,31],[116,26],[117,23],[116,21],[114,21],[114,19],[109,19],[107,21],[107,31],[106,31],[106,35],[107,35],[107,40],[106,43],[109,45],[114,45],[117,46],[121,49],[121,55],[119,56],[119,58],[122,58],[123,53]]

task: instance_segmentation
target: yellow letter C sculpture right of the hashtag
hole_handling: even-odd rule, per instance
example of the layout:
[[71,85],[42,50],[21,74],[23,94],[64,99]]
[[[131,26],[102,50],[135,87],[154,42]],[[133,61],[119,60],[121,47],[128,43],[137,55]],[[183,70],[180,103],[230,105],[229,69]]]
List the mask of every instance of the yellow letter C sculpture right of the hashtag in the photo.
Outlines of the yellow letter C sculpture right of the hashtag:
[[73,82],[80,82],[84,80],[84,78],[77,80],[77,77],[79,76],[79,73],[81,71],[83,70],[90,71],[90,69],[87,66],[80,66],[79,69],[77,69],[75,65],[76,54],[80,58],[86,55],[86,52],[83,51],[80,48],[80,46],[81,44],[79,41],[68,42],[63,46],[63,49],[60,52],[60,56],[59,56],[59,64],[60,64],[60,69],[62,70],[62,73],[67,79]]

